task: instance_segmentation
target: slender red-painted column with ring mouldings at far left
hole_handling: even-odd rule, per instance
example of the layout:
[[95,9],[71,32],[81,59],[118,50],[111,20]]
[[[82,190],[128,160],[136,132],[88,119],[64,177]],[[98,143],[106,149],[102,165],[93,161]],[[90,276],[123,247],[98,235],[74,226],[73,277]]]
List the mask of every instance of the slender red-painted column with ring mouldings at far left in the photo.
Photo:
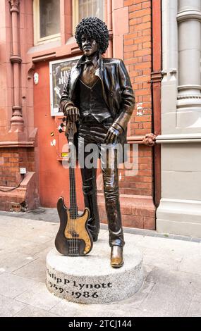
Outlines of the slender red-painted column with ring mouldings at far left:
[[19,28],[18,14],[20,0],[9,0],[11,5],[11,26],[12,26],[12,55],[11,63],[13,64],[13,115],[11,118],[10,132],[23,132],[24,121],[22,106],[20,102],[20,65],[22,58],[19,55]]

